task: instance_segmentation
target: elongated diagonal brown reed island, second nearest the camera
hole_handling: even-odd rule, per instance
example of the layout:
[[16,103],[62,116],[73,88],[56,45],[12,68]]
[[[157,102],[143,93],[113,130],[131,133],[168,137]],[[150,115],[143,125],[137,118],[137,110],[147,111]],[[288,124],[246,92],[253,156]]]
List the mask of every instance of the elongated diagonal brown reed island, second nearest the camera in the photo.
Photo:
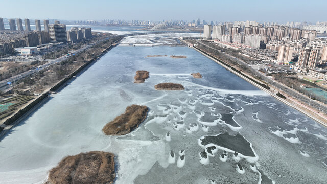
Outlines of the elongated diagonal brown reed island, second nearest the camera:
[[139,126],[147,117],[148,107],[140,105],[128,106],[125,113],[107,123],[102,131],[106,135],[125,135]]

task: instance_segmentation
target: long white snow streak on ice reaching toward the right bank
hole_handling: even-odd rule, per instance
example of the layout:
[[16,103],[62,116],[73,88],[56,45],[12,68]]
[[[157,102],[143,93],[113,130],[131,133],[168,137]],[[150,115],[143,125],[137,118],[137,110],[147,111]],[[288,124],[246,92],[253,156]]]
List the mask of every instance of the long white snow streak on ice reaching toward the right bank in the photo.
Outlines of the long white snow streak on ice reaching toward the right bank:
[[255,96],[255,95],[269,96],[269,94],[266,93],[263,90],[230,90],[230,89],[221,89],[221,88],[215,88],[215,87],[208,87],[208,86],[192,83],[192,82],[189,82],[189,81],[183,81],[183,83],[189,83],[190,84],[190,86],[185,86],[184,85],[184,87],[197,86],[197,87],[202,87],[202,88],[205,88],[205,89],[211,89],[211,90],[219,91],[221,94],[239,94],[239,95],[246,95],[246,96]]

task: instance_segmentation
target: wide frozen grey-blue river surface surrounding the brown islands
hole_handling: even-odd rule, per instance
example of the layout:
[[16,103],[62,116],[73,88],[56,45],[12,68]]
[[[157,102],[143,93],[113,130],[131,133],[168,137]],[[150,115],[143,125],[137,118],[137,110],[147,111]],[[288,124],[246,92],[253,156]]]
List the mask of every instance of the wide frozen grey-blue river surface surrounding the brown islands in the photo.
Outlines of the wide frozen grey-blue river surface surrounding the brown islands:
[[[133,83],[137,70],[150,78]],[[150,108],[145,122],[104,135],[131,104]],[[326,148],[325,127],[193,49],[119,46],[0,141],[0,183],[44,183],[63,157],[96,150],[117,155],[115,183],[325,183]]]

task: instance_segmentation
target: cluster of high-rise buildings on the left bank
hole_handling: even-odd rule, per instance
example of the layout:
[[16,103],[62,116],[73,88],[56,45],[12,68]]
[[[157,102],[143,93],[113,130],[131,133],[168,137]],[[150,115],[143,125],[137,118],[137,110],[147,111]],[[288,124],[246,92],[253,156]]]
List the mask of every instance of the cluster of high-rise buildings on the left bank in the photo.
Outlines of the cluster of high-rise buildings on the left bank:
[[[16,22],[17,27],[16,28]],[[41,29],[41,21],[35,20],[36,30],[31,31],[30,20],[24,19],[25,30],[22,26],[22,20],[20,18],[8,19],[9,27],[11,31],[26,31],[19,38],[7,39],[0,41],[0,55],[14,54],[17,51],[23,50],[21,48],[28,47],[26,49],[34,49],[37,45],[43,45],[46,43],[76,43],[82,39],[89,39],[92,37],[91,28],[72,28],[66,30],[66,25],[60,24],[60,21],[55,21],[54,24],[49,24],[49,20],[44,20],[44,30]],[[0,18],[0,32],[5,30],[3,18]],[[1,34],[0,34],[1,36]],[[20,49],[17,49],[20,48]]]

